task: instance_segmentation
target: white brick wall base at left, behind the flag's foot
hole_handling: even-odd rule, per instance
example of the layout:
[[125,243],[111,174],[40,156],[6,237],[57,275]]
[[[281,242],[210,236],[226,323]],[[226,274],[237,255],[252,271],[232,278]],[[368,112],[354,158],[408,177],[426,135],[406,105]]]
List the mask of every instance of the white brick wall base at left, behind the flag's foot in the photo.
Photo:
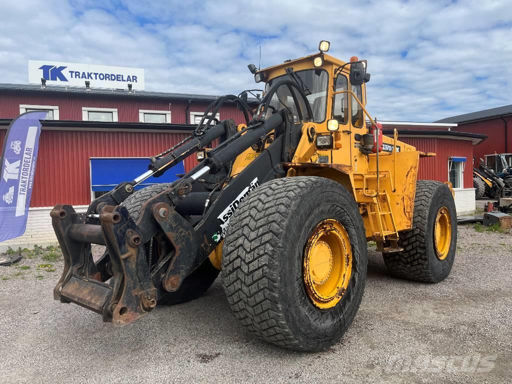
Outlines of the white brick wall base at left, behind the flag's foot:
[[[87,211],[87,205],[74,207],[77,212]],[[18,247],[33,248],[34,245],[47,247],[57,245],[57,238],[52,227],[50,211],[53,207],[29,208],[27,228],[22,236],[0,242],[0,252],[5,252],[8,247],[16,250]]]

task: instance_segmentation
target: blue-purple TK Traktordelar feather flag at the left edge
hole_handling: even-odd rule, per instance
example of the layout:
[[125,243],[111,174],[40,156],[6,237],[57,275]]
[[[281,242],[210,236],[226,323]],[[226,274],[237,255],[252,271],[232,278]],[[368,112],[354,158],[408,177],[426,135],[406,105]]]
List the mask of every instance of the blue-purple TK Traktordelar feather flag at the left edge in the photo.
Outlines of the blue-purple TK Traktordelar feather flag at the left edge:
[[0,241],[22,236],[27,227],[41,123],[46,111],[12,120],[4,141],[0,168]]

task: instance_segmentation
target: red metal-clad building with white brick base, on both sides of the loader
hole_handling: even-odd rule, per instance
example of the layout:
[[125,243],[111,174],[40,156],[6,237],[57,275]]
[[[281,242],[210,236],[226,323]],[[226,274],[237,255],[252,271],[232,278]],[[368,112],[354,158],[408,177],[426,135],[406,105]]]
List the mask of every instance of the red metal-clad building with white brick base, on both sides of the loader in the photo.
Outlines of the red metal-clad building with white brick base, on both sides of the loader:
[[[42,122],[27,231],[20,238],[1,243],[0,251],[7,246],[54,243],[50,208],[67,203],[78,210],[85,209],[96,196],[91,185],[91,159],[122,161],[158,154],[188,136],[215,99],[208,95],[0,84],[0,145],[14,117],[34,109],[49,111],[49,119]],[[244,122],[232,103],[224,104],[217,118]],[[419,178],[458,178],[458,210],[474,209],[471,172],[464,173],[462,163],[457,163],[454,166],[459,173],[451,175],[450,164],[453,159],[472,159],[473,144],[483,140],[483,135],[450,131],[457,125],[453,123],[384,125],[389,130],[396,127],[400,140],[421,151],[435,152],[436,157],[421,160]],[[196,160],[189,157],[184,163],[185,171],[195,165]],[[468,166],[471,169],[471,163]]]

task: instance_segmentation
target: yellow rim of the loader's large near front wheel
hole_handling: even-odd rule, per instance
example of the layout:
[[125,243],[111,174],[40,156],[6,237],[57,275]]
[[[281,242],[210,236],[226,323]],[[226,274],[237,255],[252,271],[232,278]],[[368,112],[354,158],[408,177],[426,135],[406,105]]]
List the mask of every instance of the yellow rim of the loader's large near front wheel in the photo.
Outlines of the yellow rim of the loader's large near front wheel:
[[352,248],[347,231],[327,219],[311,233],[304,252],[304,283],[313,304],[334,307],[347,290],[352,272]]

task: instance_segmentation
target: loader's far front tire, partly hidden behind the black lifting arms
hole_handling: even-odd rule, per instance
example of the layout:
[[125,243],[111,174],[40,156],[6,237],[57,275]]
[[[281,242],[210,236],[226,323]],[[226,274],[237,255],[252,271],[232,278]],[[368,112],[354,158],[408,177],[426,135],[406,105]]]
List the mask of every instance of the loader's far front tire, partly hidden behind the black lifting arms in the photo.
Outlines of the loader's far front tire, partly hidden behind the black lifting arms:
[[[162,193],[170,185],[170,183],[154,184],[139,189],[124,200],[121,205],[124,205],[130,212],[132,218],[137,221],[142,205],[148,199]],[[206,259],[203,264],[185,278],[181,287],[176,292],[166,293],[158,302],[160,304],[174,305],[194,300],[208,290],[215,279],[217,279],[219,273],[220,271],[211,264],[210,260]]]

